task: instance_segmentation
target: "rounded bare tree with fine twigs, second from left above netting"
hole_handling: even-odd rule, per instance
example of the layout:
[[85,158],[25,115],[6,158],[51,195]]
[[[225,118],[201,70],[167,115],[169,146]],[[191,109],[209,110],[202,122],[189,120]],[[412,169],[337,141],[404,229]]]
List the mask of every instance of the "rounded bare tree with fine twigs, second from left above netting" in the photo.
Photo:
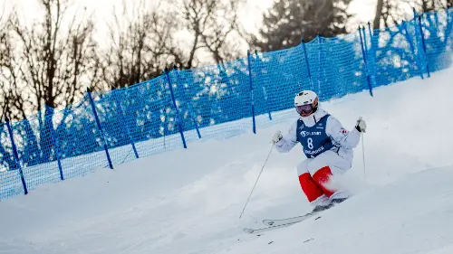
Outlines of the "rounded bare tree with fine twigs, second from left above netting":
[[108,87],[120,88],[150,80],[171,61],[184,61],[175,45],[177,27],[159,6],[150,10],[144,1],[122,11],[114,10],[114,23],[109,24],[110,42],[103,53],[103,80]]

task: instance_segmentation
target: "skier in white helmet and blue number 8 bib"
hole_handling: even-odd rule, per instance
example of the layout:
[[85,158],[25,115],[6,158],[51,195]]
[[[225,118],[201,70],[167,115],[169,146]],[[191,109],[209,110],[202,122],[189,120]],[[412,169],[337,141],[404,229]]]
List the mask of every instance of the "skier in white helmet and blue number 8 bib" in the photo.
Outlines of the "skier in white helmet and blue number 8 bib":
[[297,165],[299,183],[314,207],[313,212],[320,212],[349,198],[348,193],[331,186],[329,180],[352,167],[352,149],[359,144],[366,123],[359,118],[352,131],[346,130],[339,120],[319,107],[318,96],[312,90],[298,93],[294,107],[300,118],[285,136],[278,130],[272,142],[280,153],[291,151],[298,143],[303,146],[307,159]]

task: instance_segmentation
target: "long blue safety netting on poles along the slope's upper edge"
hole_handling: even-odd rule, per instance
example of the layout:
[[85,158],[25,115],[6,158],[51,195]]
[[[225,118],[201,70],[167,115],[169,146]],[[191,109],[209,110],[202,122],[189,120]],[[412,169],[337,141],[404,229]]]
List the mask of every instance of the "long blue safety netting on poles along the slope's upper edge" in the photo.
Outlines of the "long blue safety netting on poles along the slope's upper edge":
[[127,88],[87,92],[63,110],[46,107],[0,123],[0,200],[198,140],[256,132],[278,121],[274,112],[293,108],[303,89],[325,101],[426,79],[451,66],[452,25],[450,9],[415,14],[382,30],[365,26],[282,51],[164,71]]

